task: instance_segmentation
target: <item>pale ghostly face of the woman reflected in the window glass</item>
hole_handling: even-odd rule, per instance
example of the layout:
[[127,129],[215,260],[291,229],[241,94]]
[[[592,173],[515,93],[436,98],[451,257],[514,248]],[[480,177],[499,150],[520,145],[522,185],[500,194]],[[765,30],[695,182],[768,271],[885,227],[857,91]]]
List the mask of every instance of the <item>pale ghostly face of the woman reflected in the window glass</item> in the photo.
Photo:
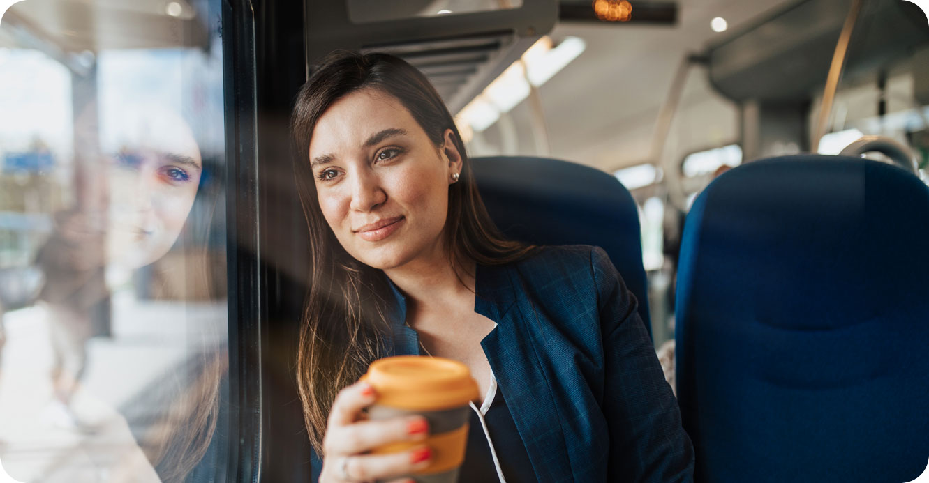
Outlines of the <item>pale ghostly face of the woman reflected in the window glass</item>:
[[174,245],[197,195],[203,160],[179,118],[149,117],[125,127],[122,146],[109,154],[107,260],[136,268]]

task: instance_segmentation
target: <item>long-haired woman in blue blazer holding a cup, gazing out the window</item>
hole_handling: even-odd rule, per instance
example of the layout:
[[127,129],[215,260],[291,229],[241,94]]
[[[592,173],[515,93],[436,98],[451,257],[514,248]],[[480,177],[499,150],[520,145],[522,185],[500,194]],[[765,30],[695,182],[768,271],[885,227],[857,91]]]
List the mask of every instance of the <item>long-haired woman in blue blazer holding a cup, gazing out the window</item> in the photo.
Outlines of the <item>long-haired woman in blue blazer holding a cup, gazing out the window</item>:
[[671,388],[605,252],[498,235],[451,115],[418,70],[334,53],[297,95],[291,125],[310,233],[297,382],[321,457],[314,480],[386,480],[428,464],[426,447],[365,454],[428,427],[365,421],[377,395],[355,383],[378,358],[419,353],[464,362],[486,395],[461,481],[691,479]]

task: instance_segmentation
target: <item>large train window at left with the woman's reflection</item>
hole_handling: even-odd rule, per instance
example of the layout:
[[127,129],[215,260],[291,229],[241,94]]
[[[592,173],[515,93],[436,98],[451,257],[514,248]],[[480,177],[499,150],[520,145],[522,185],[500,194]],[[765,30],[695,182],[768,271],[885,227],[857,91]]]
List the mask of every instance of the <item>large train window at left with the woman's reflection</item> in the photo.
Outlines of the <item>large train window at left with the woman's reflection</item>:
[[3,16],[0,480],[225,479],[218,6]]

